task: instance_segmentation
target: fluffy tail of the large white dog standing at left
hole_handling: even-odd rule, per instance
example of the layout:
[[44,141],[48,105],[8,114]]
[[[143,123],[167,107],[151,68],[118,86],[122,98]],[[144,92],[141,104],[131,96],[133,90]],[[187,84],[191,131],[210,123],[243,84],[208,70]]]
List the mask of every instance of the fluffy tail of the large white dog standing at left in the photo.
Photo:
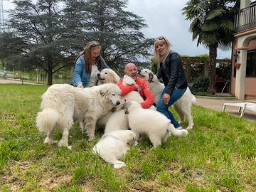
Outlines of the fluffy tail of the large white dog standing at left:
[[51,132],[58,123],[60,117],[56,110],[46,108],[42,112],[38,112],[36,117],[36,127],[40,132]]

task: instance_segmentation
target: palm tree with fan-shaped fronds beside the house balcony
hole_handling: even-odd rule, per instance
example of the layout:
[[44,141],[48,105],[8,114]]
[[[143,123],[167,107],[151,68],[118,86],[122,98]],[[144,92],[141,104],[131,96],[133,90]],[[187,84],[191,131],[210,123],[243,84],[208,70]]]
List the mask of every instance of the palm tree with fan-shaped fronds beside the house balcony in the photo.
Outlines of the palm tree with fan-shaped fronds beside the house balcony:
[[217,48],[228,50],[234,41],[234,16],[239,9],[238,0],[190,0],[182,9],[186,20],[192,21],[189,30],[197,46],[202,44],[209,49],[208,92],[215,93]]

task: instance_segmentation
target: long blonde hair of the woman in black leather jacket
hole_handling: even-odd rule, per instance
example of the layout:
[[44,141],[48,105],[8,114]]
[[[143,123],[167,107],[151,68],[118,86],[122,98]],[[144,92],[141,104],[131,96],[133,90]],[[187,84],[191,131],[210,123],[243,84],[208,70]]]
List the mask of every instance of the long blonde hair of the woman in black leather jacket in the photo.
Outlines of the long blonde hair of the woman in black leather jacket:
[[[156,50],[156,48],[159,45],[166,45],[166,50],[164,51],[163,55],[159,55],[159,52]],[[168,39],[164,36],[160,36],[159,38],[156,38],[154,41],[154,59],[156,60],[156,64],[160,65],[160,63],[164,64],[164,61],[166,60],[167,56],[169,55],[171,51],[171,43],[168,41]]]

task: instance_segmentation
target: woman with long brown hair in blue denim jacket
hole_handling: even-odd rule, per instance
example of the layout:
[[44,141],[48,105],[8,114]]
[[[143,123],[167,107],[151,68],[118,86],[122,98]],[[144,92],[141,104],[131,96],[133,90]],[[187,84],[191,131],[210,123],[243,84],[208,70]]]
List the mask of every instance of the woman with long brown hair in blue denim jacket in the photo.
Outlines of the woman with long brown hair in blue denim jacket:
[[107,66],[100,55],[100,44],[90,41],[75,60],[73,85],[78,88],[97,85],[97,73]]

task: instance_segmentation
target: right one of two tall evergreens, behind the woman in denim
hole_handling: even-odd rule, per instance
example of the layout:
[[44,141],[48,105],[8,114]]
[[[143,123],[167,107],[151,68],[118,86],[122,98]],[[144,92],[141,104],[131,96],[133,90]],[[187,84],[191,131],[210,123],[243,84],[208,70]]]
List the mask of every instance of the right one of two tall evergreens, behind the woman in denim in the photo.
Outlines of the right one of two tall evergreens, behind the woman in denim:
[[102,45],[102,56],[111,68],[118,70],[124,63],[147,58],[151,55],[152,39],[147,39],[140,31],[146,27],[142,17],[125,11],[127,0],[74,0],[68,4],[68,23],[73,23],[74,31],[85,42],[95,40]]

